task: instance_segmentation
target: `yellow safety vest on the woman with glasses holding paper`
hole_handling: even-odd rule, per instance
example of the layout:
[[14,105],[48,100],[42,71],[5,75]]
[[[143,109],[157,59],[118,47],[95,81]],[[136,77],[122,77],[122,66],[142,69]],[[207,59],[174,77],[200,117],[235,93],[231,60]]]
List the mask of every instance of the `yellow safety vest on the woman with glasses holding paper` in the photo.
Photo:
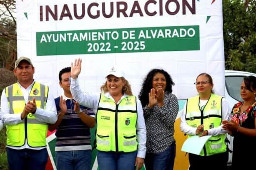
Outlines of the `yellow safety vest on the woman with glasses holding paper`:
[[[189,98],[186,108],[186,122],[191,127],[203,124],[203,130],[208,130],[221,125],[222,111],[221,100],[223,97],[211,94],[206,106],[201,111],[199,108],[199,96]],[[191,136],[188,136],[191,137]],[[205,143],[200,155],[214,155],[226,152],[225,134],[212,136]]]

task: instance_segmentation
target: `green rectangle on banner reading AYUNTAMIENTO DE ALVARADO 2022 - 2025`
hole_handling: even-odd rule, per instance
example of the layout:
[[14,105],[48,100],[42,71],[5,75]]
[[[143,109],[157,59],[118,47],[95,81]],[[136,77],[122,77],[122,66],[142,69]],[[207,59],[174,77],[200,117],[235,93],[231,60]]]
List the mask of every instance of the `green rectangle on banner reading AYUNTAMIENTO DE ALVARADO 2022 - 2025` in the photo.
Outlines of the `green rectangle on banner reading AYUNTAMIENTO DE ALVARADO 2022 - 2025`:
[[37,55],[200,50],[199,25],[37,32]]

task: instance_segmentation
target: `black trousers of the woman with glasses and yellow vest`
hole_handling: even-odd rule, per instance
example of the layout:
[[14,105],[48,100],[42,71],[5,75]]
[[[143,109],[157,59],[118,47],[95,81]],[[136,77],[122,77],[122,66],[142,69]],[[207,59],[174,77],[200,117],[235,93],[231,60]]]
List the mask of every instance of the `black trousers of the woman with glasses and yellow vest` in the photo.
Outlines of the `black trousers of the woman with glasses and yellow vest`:
[[218,153],[210,156],[188,154],[189,170],[226,170],[228,153]]

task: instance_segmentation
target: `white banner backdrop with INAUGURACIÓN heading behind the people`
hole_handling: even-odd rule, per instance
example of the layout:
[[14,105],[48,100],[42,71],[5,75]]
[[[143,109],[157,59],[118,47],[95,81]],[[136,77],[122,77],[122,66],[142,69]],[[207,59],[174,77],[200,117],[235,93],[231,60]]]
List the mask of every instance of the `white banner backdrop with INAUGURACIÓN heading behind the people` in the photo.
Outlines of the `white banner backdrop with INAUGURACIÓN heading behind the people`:
[[76,58],[84,91],[100,92],[106,70],[118,66],[135,95],[153,68],[168,71],[178,99],[197,94],[202,72],[224,95],[221,0],[17,0],[17,40],[18,57],[32,59],[35,80],[54,97],[59,71]]

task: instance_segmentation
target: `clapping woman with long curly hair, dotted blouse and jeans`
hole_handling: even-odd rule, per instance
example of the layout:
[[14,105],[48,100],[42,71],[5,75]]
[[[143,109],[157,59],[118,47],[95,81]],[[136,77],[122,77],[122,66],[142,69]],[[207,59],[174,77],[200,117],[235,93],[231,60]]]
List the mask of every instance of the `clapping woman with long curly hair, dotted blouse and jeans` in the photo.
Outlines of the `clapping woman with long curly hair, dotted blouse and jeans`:
[[144,79],[138,96],[147,130],[147,170],[173,170],[176,155],[174,122],[178,114],[177,97],[171,94],[173,85],[166,71],[153,69]]

